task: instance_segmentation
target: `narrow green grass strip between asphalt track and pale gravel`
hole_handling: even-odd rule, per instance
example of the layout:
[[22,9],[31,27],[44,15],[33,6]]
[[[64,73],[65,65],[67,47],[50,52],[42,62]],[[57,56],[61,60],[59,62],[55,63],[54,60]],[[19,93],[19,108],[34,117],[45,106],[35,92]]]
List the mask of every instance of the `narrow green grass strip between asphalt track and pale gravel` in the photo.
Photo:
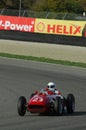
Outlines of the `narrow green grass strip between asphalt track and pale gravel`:
[[9,53],[0,53],[0,57],[8,57],[8,58],[15,58],[15,59],[23,59],[23,60],[32,60],[32,61],[38,61],[38,62],[46,62],[46,63],[54,63],[54,64],[61,64],[61,65],[77,66],[77,67],[86,68],[86,63],[71,62],[71,61],[65,61],[65,60],[54,60],[54,59],[44,58],[44,57],[15,55],[15,54],[9,54]]

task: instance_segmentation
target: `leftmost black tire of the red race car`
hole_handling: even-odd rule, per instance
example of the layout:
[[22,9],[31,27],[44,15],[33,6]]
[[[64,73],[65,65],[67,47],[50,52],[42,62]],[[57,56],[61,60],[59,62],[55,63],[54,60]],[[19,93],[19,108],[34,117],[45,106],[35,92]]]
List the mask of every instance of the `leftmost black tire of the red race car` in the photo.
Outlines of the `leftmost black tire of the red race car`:
[[26,98],[24,96],[21,96],[17,104],[17,110],[20,116],[24,116],[26,113],[26,103]]

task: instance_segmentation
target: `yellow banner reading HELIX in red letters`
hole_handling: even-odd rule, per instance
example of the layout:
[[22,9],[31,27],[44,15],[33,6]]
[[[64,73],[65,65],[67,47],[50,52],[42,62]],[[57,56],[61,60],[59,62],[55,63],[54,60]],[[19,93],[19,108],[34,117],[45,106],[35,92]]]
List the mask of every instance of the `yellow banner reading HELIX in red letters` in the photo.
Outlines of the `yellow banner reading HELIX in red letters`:
[[52,20],[52,19],[36,19],[35,32],[86,37],[86,22]]

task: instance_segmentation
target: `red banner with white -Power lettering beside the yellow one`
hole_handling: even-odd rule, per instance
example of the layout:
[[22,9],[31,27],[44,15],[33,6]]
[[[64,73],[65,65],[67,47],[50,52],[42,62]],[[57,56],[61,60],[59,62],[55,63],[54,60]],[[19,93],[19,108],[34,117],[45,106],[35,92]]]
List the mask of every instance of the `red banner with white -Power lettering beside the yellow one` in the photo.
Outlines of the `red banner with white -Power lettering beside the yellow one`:
[[34,18],[0,16],[0,30],[34,32]]

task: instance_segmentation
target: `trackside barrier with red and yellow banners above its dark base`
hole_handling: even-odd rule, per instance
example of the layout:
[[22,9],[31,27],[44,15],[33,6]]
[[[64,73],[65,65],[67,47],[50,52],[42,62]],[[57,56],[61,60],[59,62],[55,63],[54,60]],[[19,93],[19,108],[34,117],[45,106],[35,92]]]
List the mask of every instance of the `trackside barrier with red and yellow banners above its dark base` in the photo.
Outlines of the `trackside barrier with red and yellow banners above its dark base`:
[[20,40],[34,39],[34,41],[86,46],[85,21],[0,16],[0,34],[0,38],[19,40],[21,37],[19,35],[22,35],[24,38]]

